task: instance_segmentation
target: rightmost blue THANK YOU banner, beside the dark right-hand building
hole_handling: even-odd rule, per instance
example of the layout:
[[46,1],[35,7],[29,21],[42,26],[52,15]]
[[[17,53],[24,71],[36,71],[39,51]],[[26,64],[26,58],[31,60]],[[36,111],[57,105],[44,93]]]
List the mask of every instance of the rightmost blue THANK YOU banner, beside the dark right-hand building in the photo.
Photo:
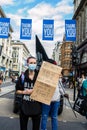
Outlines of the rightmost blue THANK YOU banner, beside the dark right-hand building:
[[66,41],[76,41],[76,20],[65,20]]

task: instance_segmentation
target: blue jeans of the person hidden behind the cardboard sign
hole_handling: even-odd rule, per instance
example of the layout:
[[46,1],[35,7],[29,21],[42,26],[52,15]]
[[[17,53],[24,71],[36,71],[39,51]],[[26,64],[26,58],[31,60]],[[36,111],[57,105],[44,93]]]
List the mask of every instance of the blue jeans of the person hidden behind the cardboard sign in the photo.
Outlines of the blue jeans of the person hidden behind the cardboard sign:
[[58,109],[60,102],[51,102],[50,105],[42,104],[41,130],[47,130],[47,119],[51,116],[52,130],[58,130]]

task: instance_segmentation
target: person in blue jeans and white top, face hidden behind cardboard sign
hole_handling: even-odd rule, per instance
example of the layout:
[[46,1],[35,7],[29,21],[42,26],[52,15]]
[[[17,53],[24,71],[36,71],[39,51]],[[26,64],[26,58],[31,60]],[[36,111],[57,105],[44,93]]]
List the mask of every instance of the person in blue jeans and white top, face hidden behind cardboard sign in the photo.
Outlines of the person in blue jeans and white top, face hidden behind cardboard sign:
[[[56,65],[56,62],[52,59],[49,59],[48,62]],[[47,119],[49,112],[51,116],[52,130],[58,130],[58,109],[60,106],[60,94],[68,98],[68,94],[64,93],[61,85],[62,81],[60,76],[58,86],[56,87],[50,105],[42,104],[41,130],[47,130]]]

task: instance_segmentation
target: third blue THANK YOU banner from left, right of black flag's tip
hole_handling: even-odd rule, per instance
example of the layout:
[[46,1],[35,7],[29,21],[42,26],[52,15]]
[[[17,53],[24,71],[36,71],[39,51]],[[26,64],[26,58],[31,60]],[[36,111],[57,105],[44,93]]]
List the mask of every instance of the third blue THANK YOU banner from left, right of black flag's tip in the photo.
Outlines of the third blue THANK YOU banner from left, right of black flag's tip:
[[43,20],[43,40],[53,40],[54,20]]

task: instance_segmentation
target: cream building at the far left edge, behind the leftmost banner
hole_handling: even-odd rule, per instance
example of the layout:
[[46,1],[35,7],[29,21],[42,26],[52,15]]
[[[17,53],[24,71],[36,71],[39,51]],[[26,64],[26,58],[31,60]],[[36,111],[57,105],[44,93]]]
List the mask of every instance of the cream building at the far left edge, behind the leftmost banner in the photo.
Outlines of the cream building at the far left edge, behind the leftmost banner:
[[[6,18],[3,9],[0,6],[0,17]],[[8,39],[0,39],[0,73],[3,76],[9,77],[9,72],[12,69],[12,50],[11,50],[11,39],[12,39],[13,29],[10,25],[9,37]]]

